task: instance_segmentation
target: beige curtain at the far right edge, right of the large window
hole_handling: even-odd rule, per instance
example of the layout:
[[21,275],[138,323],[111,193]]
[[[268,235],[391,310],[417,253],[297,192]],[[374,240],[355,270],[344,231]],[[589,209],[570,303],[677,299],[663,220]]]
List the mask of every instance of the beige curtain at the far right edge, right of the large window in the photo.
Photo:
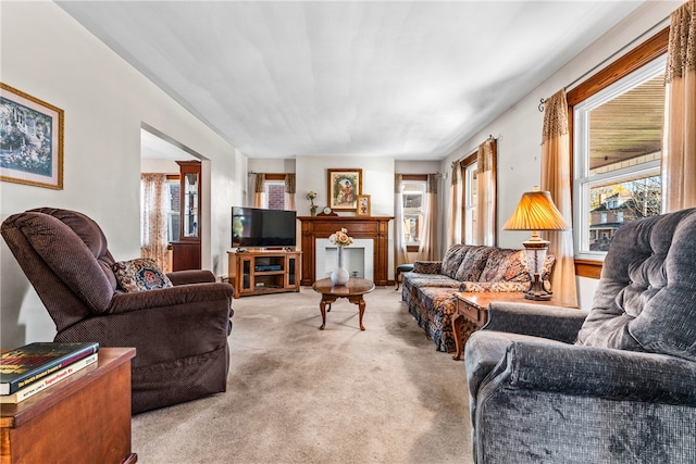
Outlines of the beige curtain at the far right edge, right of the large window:
[[664,73],[662,212],[696,206],[696,0],[671,14]]

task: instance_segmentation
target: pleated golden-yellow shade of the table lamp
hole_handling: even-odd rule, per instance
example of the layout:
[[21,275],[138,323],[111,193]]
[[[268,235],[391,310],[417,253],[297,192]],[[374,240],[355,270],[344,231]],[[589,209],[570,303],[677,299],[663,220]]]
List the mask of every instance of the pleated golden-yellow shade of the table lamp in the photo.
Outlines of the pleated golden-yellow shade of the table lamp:
[[568,230],[570,226],[548,191],[527,191],[502,227],[506,230]]

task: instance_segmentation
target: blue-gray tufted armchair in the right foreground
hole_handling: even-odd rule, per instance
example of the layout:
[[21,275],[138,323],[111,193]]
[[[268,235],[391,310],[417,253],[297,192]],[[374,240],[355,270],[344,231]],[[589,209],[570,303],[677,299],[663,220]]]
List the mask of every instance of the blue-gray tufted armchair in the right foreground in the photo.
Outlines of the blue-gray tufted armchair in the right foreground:
[[696,209],[620,227],[589,311],[490,303],[464,358],[480,464],[696,463]]

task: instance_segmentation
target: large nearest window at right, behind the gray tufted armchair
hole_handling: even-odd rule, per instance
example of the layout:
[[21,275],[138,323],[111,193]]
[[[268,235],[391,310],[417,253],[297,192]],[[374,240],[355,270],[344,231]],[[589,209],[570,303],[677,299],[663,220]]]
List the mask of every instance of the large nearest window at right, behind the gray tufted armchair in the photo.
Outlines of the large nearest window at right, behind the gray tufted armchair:
[[663,30],[568,93],[577,258],[604,259],[622,224],[660,214],[666,50]]

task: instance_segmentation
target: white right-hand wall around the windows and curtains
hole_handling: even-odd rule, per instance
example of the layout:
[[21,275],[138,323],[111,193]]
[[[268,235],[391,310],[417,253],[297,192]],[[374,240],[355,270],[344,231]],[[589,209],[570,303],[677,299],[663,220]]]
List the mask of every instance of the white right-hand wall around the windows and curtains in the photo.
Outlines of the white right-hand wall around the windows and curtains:
[[[556,93],[594,70],[605,61],[612,61],[629,49],[621,51],[635,41],[638,45],[669,14],[679,8],[682,1],[645,2],[633,14],[618,24],[585,49],[577,57],[539,85],[519,102],[515,102],[500,117],[483,127],[478,134],[462,143],[442,164],[440,172],[447,172],[452,161],[471,153],[488,135],[498,138],[498,224],[506,223],[514,211],[522,193],[539,185],[540,180],[540,143],[544,114],[538,111],[539,100]],[[667,25],[667,23],[664,24]],[[660,28],[655,28],[657,33]],[[639,37],[645,36],[636,41]],[[614,57],[614,54],[617,54]],[[611,59],[611,60],[609,60]],[[609,64],[609,63],[605,63]],[[594,72],[599,70],[594,70]],[[587,76],[586,76],[587,77]],[[449,211],[449,199],[445,196],[444,210]],[[442,230],[445,229],[443,225]],[[498,242],[501,247],[521,248],[529,233],[498,230]],[[581,308],[589,308],[597,281],[579,278]]]

